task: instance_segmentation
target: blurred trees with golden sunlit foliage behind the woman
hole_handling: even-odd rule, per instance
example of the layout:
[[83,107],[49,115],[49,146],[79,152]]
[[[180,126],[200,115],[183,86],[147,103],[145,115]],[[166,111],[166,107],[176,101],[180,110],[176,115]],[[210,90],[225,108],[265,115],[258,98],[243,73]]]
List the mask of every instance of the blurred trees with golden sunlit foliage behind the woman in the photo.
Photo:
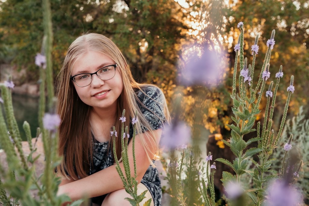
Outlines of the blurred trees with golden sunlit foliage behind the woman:
[[[193,141],[200,141],[199,138],[207,141],[214,159],[232,159],[220,140],[230,137],[225,124],[231,124],[234,46],[240,34],[237,24],[241,21],[248,64],[252,62],[255,36],[260,35],[253,85],[265,58],[266,41],[271,31],[276,30],[269,70],[274,80],[282,65],[284,76],[277,92],[274,130],[278,130],[281,121],[291,75],[295,91],[287,119],[297,114],[301,105],[305,106],[303,114],[308,118],[308,0],[50,0],[50,3],[54,80],[67,48],[76,37],[86,32],[108,36],[127,58],[138,82],[153,83],[163,90],[172,116],[178,113],[173,102],[182,95],[183,112],[178,116],[199,128],[193,131]],[[37,106],[33,105],[37,105],[39,94],[39,68],[34,59],[42,48],[43,15],[40,0],[0,0],[0,79],[3,82],[8,75],[12,76],[15,115],[20,124],[27,120],[33,125],[32,136],[37,127]],[[227,64],[216,85],[184,86],[178,81],[192,44],[207,44],[225,51]],[[265,109],[265,104],[266,99],[262,99],[260,110]],[[263,119],[262,114],[257,120]],[[217,175],[222,174],[222,167],[217,164]],[[217,184],[219,179],[218,176]]]

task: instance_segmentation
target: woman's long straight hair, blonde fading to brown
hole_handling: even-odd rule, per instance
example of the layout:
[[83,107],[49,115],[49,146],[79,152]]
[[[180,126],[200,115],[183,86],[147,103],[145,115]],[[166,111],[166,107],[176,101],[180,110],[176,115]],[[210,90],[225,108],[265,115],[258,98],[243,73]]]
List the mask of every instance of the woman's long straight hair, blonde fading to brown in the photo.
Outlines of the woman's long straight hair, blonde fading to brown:
[[[61,164],[57,166],[56,170],[61,176],[68,178],[69,174],[70,178],[74,180],[88,176],[92,164],[92,139],[89,121],[90,106],[81,101],[74,88],[73,82],[70,81],[71,71],[75,62],[87,52],[103,53],[118,64],[117,69],[119,69],[122,77],[123,90],[117,99],[116,114],[118,116],[115,117],[115,120],[121,117],[123,109],[126,111],[125,116],[127,120],[133,118],[135,116],[135,111],[138,111],[137,118],[139,121],[137,122],[137,132],[142,133],[142,126],[145,127],[149,131],[145,133],[145,138],[153,140],[153,142],[155,142],[156,151],[159,151],[154,132],[141,110],[138,108],[137,103],[143,104],[134,92],[134,90],[143,92],[141,88],[149,85],[139,84],[134,80],[128,62],[112,40],[100,34],[84,34],[74,40],[68,48],[57,78],[57,113],[61,119],[61,124],[59,126],[58,155],[64,156],[64,158]],[[158,90],[161,91],[160,89]],[[146,95],[145,92],[143,93]],[[162,91],[161,95],[163,95]],[[161,104],[163,104],[162,106],[164,108],[165,121],[170,121],[165,98],[163,98]],[[157,115],[156,118],[161,119]],[[163,122],[164,120],[161,119],[161,121]],[[125,122],[125,126],[129,127],[129,121]],[[120,133],[121,122],[116,121],[115,127],[116,131]],[[118,140],[119,138],[116,138],[115,142],[111,140],[110,145],[116,145],[117,157],[121,157],[121,141]],[[145,151],[150,151],[149,146],[145,144],[145,139],[142,138],[141,141]],[[150,158],[148,153],[147,157],[150,164],[153,165],[153,157]]]

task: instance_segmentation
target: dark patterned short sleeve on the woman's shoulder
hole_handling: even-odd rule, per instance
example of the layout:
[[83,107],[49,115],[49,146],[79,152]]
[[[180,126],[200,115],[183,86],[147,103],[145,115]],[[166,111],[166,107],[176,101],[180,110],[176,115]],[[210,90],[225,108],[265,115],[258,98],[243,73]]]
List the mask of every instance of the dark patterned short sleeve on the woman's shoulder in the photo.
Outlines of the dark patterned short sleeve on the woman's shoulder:
[[[138,103],[140,110],[145,116],[146,120],[150,124],[152,130],[162,128],[166,121],[164,115],[164,95],[163,92],[155,86],[147,86],[142,88],[146,95],[142,91],[138,91],[137,95],[142,105]],[[147,129],[142,128],[144,131]]]

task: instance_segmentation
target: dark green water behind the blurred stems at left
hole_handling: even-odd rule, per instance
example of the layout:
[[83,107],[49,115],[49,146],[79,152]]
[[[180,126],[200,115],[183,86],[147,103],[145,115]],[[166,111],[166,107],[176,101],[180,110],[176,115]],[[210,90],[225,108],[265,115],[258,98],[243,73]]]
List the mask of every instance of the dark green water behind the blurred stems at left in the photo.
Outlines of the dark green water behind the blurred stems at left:
[[22,140],[27,140],[26,134],[23,130],[24,121],[27,121],[30,124],[31,136],[36,137],[36,128],[39,127],[39,98],[26,95],[12,94],[12,101],[14,115],[18,124]]

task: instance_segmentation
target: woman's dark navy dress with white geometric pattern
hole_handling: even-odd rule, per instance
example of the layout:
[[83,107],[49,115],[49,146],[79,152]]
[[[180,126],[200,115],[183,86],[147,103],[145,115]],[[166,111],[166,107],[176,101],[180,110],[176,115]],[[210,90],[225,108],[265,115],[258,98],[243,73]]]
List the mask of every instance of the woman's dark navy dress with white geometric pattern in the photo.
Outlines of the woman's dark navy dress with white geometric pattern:
[[[162,92],[154,86],[147,86],[142,88],[142,90],[147,94],[145,95],[142,91],[136,91],[136,94],[143,107],[138,103],[140,110],[145,116],[146,120],[150,123],[153,130],[162,127],[165,121],[165,116],[163,112],[163,98]],[[145,128],[144,128],[145,129]],[[130,137],[133,136],[133,127],[130,124],[129,129]],[[112,148],[108,148],[108,142],[100,143],[93,137],[93,168],[90,168],[90,174],[103,170],[114,163],[114,158],[112,155]],[[161,206],[161,181],[159,179],[159,173],[157,168],[153,168],[151,165],[148,167],[146,173],[144,174],[142,181],[147,189],[150,191],[152,199],[155,206]],[[101,195],[92,198],[92,203],[101,205],[106,195]]]

